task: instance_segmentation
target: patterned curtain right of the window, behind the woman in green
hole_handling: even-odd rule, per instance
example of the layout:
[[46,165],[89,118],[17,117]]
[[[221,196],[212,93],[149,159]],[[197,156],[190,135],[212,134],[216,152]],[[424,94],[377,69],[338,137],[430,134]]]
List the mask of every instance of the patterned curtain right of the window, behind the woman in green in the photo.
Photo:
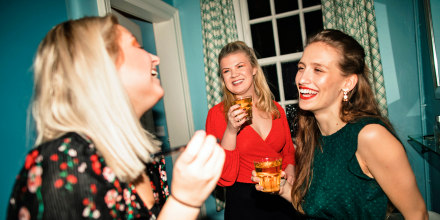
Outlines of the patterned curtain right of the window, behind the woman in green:
[[321,0],[321,4],[325,29],[344,31],[364,47],[369,81],[382,115],[388,116],[373,0]]

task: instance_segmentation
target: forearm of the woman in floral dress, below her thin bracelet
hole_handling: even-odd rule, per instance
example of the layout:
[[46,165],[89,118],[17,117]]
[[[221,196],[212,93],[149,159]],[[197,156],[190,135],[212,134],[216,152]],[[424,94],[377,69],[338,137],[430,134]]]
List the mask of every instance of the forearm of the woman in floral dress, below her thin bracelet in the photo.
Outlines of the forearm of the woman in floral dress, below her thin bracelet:
[[160,211],[158,220],[182,219],[190,220],[196,219],[200,213],[200,208],[187,206],[177,201],[173,196],[170,196]]

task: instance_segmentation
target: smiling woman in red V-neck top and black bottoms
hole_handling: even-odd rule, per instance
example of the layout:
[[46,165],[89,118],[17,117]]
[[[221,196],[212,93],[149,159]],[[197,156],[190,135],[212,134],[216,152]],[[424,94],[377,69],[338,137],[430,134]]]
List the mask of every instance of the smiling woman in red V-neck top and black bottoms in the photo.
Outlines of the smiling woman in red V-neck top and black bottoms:
[[[286,114],[273,100],[252,48],[241,41],[229,43],[218,62],[223,101],[209,110],[206,131],[216,136],[226,151],[218,182],[226,187],[225,219],[292,219],[295,213],[289,203],[256,191],[251,181],[254,160],[282,156],[286,179],[293,183],[295,148]],[[251,120],[234,105],[236,96],[252,96]]]

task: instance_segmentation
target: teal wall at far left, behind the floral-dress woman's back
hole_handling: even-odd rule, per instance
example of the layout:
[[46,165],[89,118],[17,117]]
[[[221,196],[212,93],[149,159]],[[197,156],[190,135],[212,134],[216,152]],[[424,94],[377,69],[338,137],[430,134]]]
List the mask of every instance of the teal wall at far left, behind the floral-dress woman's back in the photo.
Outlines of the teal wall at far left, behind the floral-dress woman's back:
[[65,1],[0,1],[1,219],[6,216],[15,176],[33,143],[26,133],[33,86],[33,58],[45,34],[66,19]]

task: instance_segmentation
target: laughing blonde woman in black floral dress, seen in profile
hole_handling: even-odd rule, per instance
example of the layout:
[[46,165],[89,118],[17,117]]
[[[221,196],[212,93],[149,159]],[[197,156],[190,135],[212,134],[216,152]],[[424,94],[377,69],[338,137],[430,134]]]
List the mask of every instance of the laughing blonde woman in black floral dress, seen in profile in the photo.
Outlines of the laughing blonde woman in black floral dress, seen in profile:
[[170,195],[163,158],[150,158],[160,143],[139,123],[164,93],[159,62],[111,15],[49,31],[34,63],[36,147],[8,219],[196,218],[224,152],[197,132],[176,162]]

